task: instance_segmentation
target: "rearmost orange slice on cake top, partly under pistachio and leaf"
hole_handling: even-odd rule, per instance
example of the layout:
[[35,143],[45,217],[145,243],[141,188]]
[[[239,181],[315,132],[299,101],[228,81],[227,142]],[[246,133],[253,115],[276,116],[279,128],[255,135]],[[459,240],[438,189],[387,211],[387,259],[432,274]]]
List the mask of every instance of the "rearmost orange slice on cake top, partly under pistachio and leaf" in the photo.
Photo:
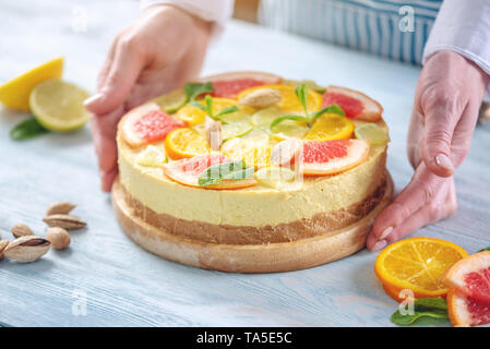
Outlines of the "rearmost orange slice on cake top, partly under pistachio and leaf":
[[[238,99],[243,99],[248,94],[251,92],[258,89],[258,88],[271,88],[275,89],[282,95],[282,99],[277,103],[277,107],[283,110],[284,112],[291,112],[291,113],[299,113],[304,115],[304,110],[301,106],[301,104],[298,100],[298,97],[295,93],[295,86],[292,85],[262,85],[262,86],[255,86],[251,88],[247,88],[243,92],[241,92],[238,95]],[[322,95],[319,93],[308,89],[308,100],[307,100],[307,107],[308,111],[315,111],[319,110],[322,106]]]

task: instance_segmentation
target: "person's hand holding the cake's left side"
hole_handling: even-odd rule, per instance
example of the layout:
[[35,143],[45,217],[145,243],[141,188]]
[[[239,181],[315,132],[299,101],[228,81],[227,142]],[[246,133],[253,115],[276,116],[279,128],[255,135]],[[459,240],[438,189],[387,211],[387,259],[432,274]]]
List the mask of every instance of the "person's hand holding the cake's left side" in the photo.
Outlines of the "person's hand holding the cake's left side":
[[194,79],[210,37],[210,23],[160,4],[146,9],[113,39],[98,75],[98,92],[85,101],[94,115],[92,134],[104,191],[110,191],[118,172],[119,119],[140,104]]

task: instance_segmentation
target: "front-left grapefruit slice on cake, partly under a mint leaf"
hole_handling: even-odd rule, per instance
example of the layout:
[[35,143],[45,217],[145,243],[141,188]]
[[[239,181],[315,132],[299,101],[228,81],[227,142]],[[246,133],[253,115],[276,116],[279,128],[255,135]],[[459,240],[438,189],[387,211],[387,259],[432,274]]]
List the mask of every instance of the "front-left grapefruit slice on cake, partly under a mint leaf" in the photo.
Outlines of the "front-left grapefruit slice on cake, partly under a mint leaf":
[[230,158],[228,158],[225,155],[212,154],[212,155],[194,156],[189,159],[171,161],[169,164],[165,164],[163,168],[165,174],[168,178],[170,178],[177,183],[188,186],[215,189],[215,190],[225,190],[225,189],[230,190],[230,189],[252,186],[256,184],[256,180],[253,177],[251,177],[240,180],[223,180],[220,182],[206,186],[199,185],[199,177],[210,166],[216,164],[225,164],[229,161],[231,161]]

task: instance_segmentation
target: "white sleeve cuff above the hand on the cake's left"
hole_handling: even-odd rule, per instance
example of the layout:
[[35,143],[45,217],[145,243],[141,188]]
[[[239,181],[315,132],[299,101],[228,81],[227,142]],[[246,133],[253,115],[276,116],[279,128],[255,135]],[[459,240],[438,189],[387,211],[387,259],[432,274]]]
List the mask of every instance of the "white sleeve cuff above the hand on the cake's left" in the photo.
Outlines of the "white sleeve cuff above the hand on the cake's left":
[[141,0],[141,8],[146,9],[156,3],[171,4],[206,22],[213,22],[213,37],[215,37],[231,17],[235,0]]

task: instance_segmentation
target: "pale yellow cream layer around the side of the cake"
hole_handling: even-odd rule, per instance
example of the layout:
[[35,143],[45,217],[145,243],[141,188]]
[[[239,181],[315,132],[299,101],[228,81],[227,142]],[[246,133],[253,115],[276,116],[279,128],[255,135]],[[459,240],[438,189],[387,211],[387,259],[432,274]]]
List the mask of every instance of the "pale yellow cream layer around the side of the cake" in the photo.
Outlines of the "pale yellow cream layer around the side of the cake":
[[357,167],[335,176],[304,177],[300,186],[205,190],[176,183],[162,168],[140,166],[141,149],[132,149],[120,133],[117,142],[120,180],[131,197],[156,214],[223,226],[276,226],[361,203],[381,185],[386,161],[386,146],[373,146]]

